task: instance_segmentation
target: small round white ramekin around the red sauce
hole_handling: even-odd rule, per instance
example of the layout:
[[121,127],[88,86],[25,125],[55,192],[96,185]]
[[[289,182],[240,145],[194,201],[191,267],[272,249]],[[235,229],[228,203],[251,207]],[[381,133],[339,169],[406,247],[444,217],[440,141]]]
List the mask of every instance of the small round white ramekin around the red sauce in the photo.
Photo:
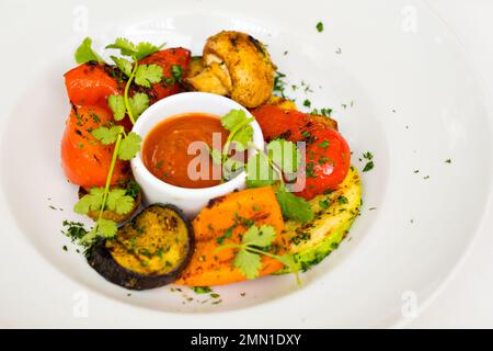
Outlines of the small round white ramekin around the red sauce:
[[[140,115],[133,131],[145,140],[147,134],[157,124],[169,117],[192,112],[204,112],[222,116],[231,110],[243,110],[246,116],[252,116],[248,110],[231,99],[205,92],[184,92],[171,95],[151,105]],[[264,138],[259,124],[256,121],[253,121],[251,126],[253,128],[253,144],[257,148],[263,148]],[[197,125],[197,128],[199,127]],[[170,157],[173,156],[170,155]],[[131,160],[131,170],[136,181],[142,189],[146,204],[173,204],[188,217],[194,217],[200,208],[207,205],[209,200],[245,188],[245,172],[241,172],[222,184],[204,189],[187,189],[168,184],[154,177],[144,166],[141,152],[138,152]]]

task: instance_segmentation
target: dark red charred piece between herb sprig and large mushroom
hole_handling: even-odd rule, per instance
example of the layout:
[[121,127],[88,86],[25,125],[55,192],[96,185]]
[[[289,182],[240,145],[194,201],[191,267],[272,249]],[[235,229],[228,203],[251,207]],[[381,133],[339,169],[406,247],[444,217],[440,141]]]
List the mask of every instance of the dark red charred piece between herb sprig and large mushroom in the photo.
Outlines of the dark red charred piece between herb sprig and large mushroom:
[[183,89],[181,84],[173,79],[176,75],[176,72],[173,75],[173,66],[180,66],[181,76],[185,77],[188,69],[190,58],[191,53],[188,49],[183,47],[174,47],[160,50],[141,59],[140,64],[142,65],[153,64],[160,66],[164,73],[164,79],[159,83],[152,84],[151,89],[146,90],[141,87],[136,87],[136,90],[146,92],[149,95],[151,103],[164,99],[165,97],[182,92]]

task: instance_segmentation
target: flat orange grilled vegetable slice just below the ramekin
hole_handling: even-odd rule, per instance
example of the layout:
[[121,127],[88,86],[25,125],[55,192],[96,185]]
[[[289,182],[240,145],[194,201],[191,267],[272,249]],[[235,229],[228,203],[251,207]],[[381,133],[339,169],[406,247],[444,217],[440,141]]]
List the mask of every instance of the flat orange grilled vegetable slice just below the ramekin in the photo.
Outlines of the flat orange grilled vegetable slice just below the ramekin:
[[[176,283],[210,286],[246,280],[233,267],[234,249],[217,249],[222,245],[239,244],[241,235],[253,224],[273,226],[277,233],[274,242],[279,244],[284,222],[272,188],[249,189],[213,200],[193,222],[196,249]],[[282,268],[283,263],[264,256],[259,275],[271,274]]]

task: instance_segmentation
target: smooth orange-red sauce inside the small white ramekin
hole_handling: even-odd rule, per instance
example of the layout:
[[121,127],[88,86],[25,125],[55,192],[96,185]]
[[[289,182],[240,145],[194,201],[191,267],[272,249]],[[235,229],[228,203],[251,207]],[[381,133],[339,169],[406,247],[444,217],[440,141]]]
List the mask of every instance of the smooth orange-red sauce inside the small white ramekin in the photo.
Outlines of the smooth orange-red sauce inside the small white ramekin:
[[[215,145],[216,149],[220,149],[229,132],[222,127],[218,116],[187,113],[167,118],[146,136],[142,145],[144,165],[157,178],[172,185],[194,189],[218,185],[221,182],[221,167],[213,163],[206,147],[213,148],[213,133],[221,135],[220,144]],[[199,147],[195,155],[188,155],[188,145],[193,141],[204,141],[206,145]],[[200,157],[200,162],[196,162],[198,155],[207,157],[206,163],[202,162],[205,161],[204,157]],[[206,179],[191,179],[188,165],[194,159],[197,167],[193,169],[207,174],[202,177]],[[208,169],[203,170],[202,165],[207,165]]]

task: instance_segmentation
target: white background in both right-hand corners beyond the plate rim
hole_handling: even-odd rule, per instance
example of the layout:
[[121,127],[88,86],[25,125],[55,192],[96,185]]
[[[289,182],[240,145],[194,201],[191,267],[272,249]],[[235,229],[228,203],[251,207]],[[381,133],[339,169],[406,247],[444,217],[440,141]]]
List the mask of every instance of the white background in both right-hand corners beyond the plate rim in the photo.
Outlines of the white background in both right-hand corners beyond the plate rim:
[[[428,0],[459,37],[493,98],[493,1]],[[489,219],[493,228],[493,218]],[[493,236],[483,230],[463,265],[416,320],[414,328],[493,328]]]

